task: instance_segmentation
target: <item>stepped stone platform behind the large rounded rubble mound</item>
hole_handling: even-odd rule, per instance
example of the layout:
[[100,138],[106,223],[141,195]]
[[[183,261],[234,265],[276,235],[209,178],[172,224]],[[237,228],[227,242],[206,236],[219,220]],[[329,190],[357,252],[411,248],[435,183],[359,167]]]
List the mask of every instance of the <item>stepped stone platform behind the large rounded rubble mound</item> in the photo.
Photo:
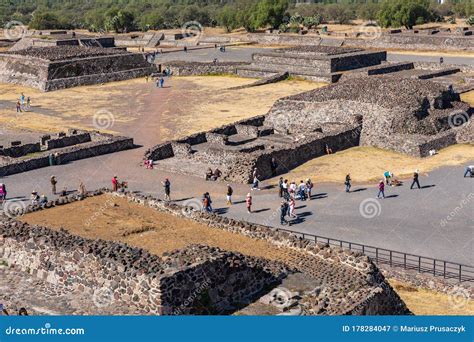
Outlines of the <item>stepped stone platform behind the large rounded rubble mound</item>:
[[252,64],[238,67],[244,77],[269,77],[282,72],[317,82],[337,82],[343,72],[380,65],[385,51],[364,51],[331,46],[301,46],[256,53]]

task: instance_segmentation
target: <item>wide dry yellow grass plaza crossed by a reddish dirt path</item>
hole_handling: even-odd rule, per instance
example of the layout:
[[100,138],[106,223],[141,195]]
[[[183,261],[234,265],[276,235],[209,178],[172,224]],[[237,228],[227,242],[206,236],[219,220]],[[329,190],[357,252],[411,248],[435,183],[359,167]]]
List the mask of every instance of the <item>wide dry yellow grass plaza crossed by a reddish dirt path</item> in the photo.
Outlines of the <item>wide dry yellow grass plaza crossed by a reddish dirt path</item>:
[[[163,139],[175,139],[265,114],[280,97],[324,85],[285,81],[229,90],[253,82],[254,79],[230,76],[174,77],[167,81],[171,88],[165,95],[142,78],[48,93],[0,84],[0,99],[12,103],[11,109],[0,110],[0,124],[41,132],[57,132],[70,127],[91,129],[94,114],[107,110],[113,115],[115,123],[123,127],[133,126],[141,120],[161,122],[163,124],[159,125],[157,135]],[[31,97],[33,108],[28,113],[15,115],[14,102],[21,93]],[[41,113],[42,110],[47,112]],[[190,122],[193,124],[190,125]]]

